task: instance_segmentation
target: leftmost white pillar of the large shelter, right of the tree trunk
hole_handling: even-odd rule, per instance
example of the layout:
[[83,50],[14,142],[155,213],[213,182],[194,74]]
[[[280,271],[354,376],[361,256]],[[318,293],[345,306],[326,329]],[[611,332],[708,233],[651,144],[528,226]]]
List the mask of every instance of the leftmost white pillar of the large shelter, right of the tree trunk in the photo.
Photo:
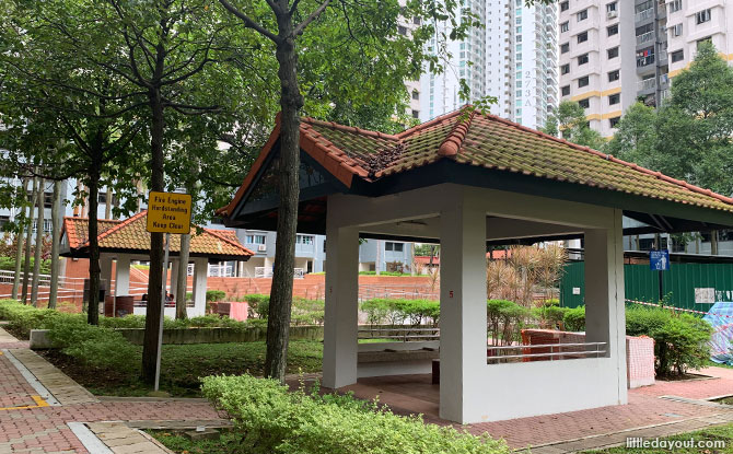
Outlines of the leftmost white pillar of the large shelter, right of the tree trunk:
[[357,383],[359,324],[359,231],[326,226],[326,315],[323,342],[323,385],[328,388]]

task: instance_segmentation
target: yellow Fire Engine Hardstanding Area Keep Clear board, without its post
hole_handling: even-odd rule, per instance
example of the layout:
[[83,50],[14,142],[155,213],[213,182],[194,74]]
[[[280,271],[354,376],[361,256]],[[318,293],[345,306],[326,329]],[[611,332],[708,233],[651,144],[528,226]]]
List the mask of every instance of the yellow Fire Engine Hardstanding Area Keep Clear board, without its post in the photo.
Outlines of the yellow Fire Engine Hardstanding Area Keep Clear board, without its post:
[[150,191],[148,198],[148,232],[189,233],[190,194]]

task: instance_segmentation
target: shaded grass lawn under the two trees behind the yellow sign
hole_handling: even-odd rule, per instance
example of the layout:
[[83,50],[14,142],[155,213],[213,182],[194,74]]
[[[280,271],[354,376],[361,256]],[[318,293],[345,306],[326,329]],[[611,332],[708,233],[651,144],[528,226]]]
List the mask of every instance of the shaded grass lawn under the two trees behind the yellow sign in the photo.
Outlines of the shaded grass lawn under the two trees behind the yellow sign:
[[[150,389],[140,380],[140,356],[129,364],[114,370],[80,364],[58,350],[42,351],[47,360],[96,395],[144,396]],[[323,344],[292,340],[288,350],[288,373],[321,371]],[[261,375],[265,342],[196,344],[163,346],[161,356],[161,389],[177,397],[199,396],[199,377],[216,374]]]

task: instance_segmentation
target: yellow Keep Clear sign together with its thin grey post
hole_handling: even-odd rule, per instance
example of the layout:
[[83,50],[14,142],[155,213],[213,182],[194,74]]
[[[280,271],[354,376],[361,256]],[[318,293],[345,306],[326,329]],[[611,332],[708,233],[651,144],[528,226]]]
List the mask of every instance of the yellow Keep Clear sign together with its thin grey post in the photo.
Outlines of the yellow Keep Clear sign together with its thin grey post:
[[148,232],[165,233],[165,254],[163,256],[163,286],[161,288],[161,316],[158,326],[158,357],[155,358],[155,387],[161,380],[161,350],[163,349],[163,317],[167,299],[168,256],[171,253],[171,233],[190,233],[191,197],[190,194],[150,191],[148,197]]

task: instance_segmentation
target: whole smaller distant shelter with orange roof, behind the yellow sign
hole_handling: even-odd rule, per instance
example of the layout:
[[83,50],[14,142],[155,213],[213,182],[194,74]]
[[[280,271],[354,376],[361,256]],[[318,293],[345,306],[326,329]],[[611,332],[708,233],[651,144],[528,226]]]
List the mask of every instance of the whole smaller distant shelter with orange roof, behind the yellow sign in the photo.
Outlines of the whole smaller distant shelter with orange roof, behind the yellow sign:
[[[146,229],[148,211],[143,210],[126,220],[100,219],[98,236],[100,266],[102,279],[114,282],[114,298],[136,296],[147,293],[147,289],[130,289],[130,261],[150,259],[150,233]],[[61,255],[71,258],[89,258],[89,219],[63,219],[61,229]],[[206,310],[206,282],[209,261],[235,260],[246,261],[254,253],[244,247],[234,231],[191,226],[189,264],[194,264],[193,304],[187,312],[189,316],[203,315]],[[181,235],[171,236],[171,288],[175,289],[177,269],[181,266]],[[113,279],[113,261],[115,277]],[[189,264],[186,264],[189,265]],[[166,315],[173,314],[174,307],[166,307]],[[144,313],[144,303],[139,302],[136,314]]]

